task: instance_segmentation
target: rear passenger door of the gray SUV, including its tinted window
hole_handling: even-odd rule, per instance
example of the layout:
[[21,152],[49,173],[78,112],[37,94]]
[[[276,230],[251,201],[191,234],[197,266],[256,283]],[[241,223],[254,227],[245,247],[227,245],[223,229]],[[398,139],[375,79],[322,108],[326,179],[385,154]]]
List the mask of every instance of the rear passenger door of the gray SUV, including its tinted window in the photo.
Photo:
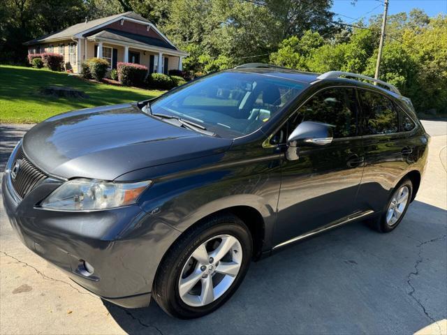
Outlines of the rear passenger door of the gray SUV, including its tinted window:
[[362,209],[381,211],[391,189],[412,162],[416,144],[409,134],[414,122],[390,98],[358,89],[362,108],[365,171],[358,193]]

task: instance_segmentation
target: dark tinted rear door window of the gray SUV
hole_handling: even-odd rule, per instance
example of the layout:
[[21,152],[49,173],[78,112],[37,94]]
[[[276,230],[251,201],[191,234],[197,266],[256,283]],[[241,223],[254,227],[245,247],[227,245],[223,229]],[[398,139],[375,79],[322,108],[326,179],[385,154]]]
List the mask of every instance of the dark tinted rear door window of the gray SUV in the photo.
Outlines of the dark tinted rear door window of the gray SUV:
[[397,111],[390,99],[366,90],[359,90],[365,126],[363,135],[390,134],[399,131]]

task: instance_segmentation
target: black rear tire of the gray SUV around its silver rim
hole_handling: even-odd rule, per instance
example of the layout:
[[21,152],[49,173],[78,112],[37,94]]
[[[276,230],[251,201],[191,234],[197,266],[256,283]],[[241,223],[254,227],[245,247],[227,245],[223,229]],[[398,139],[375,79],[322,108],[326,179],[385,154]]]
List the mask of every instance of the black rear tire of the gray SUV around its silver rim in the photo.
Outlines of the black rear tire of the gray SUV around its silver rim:
[[[404,188],[408,191],[408,193],[406,193],[404,207],[402,207],[402,209],[400,210],[401,214],[398,217],[393,214],[392,219],[390,220],[390,210],[392,209],[391,207],[395,206],[396,209],[399,209],[399,204],[397,204],[396,206],[396,202],[393,203],[393,201],[396,200],[396,196],[399,197],[400,194],[397,193],[400,193]],[[406,210],[408,209],[411,202],[412,195],[413,183],[408,178],[402,179],[402,181],[400,181],[400,183],[397,184],[397,186],[393,189],[393,193],[391,193],[391,196],[388,199],[386,207],[383,209],[383,213],[381,214],[381,216],[373,219],[373,221],[370,221],[369,225],[378,232],[392,232],[393,230],[395,230],[405,216]]]

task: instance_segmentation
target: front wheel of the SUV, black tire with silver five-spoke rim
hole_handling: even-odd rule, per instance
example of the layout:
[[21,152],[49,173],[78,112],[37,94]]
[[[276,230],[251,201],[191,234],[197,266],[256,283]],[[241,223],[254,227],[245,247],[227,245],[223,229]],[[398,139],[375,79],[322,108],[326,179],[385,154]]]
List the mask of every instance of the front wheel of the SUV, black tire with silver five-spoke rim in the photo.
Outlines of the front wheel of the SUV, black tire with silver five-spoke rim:
[[[227,248],[228,253],[221,257]],[[152,297],[163,311],[177,318],[212,313],[242,283],[252,254],[251,234],[240,218],[233,214],[208,218],[187,230],[166,253],[156,273]],[[210,262],[212,255],[219,260]]]

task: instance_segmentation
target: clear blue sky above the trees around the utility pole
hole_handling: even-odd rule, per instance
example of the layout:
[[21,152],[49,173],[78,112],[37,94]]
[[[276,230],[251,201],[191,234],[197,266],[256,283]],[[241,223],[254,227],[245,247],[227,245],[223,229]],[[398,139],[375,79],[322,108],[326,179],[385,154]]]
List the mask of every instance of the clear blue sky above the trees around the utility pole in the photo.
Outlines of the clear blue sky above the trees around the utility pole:
[[[358,17],[365,17],[365,23],[371,15],[383,13],[383,0],[358,0],[355,6],[352,0],[333,0],[332,12],[339,13],[337,18],[343,22],[357,22]],[[389,0],[388,15],[400,12],[409,13],[413,8],[425,10],[429,16],[447,13],[447,0]],[[345,15],[345,16],[342,16]]]

